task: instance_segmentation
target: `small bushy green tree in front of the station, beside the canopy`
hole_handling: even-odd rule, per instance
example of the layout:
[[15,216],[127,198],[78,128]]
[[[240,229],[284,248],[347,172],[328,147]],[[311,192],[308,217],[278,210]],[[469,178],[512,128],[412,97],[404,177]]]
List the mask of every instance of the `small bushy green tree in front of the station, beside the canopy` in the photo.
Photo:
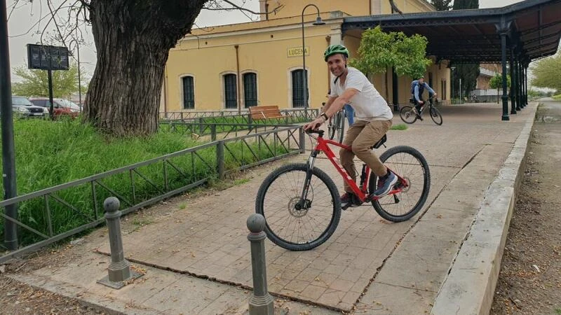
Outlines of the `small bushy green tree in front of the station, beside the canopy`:
[[378,26],[363,33],[358,57],[351,58],[349,64],[364,73],[381,73],[395,67],[398,76],[416,78],[424,75],[426,67],[432,62],[426,58],[426,44],[426,38],[419,34],[406,36],[401,31],[386,33]]

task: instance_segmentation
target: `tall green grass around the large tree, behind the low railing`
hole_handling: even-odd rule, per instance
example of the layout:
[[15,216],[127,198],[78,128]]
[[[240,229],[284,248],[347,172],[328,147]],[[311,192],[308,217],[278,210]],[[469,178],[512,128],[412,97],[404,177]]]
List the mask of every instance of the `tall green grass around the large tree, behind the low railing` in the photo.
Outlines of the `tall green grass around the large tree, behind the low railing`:
[[[107,138],[79,120],[14,120],[14,134],[18,195],[201,145],[201,142],[191,137],[165,128],[149,137]],[[270,141],[273,141],[272,137]],[[287,152],[278,144],[265,146],[263,142],[228,141],[224,145],[227,171]],[[264,150],[267,147],[273,153]],[[103,218],[102,204],[109,196],[121,195],[121,209],[126,209],[196,181],[216,181],[217,152],[215,146],[209,146],[198,150],[196,154],[178,155],[168,158],[166,162],[138,167],[137,172],[140,174],[113,174],[98,179],[95,185],[86,183],[65,188],[48,197],[20,202],[19,219],[44,235],[67,232]],[[66,203],[74,209],[67,207]],[[142,225],[142,222],[138,224]],[[20,246],[42,239],[24,228],[19,231]],[[3,234],[4,219],[0,218],[0,235]]]

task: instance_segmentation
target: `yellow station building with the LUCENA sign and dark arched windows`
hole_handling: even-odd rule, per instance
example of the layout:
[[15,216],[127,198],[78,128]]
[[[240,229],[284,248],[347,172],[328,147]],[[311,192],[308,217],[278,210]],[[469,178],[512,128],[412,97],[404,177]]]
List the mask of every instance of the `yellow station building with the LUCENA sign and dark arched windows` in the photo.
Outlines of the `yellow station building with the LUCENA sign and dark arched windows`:
[[[435,10],[425,0],[394,3],[403,13]],[[259,0],[259,4],[261,20],[193,29],[170,50],[161,112],[236,110],[256,105],[304,107],[302,10],[309,4],[318,7],[325,22],[313,25],[317,10],[306,7],[303,17],[309,107],[318,108],[326,100],[331,76],[323,60],[325,48],[341,43],[353,57],[360,45],[361,31],[342,33],[343,18],[392,11],[388,0]],[[370,76],[370,80],[390,104],[391,69]],[[400,104],[408,102],[411,80],[398,78]],[[446,60],[428,66],[425,80],[440,98],[450,99],[450,69]]]

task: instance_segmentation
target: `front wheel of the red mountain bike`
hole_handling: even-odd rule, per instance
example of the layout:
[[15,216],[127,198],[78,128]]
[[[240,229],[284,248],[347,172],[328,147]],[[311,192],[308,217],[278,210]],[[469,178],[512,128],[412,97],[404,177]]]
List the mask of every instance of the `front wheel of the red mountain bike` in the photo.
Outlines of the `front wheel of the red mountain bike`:
[[[332,179],[316,167],[312,169],[307,198],[311,208],[295,209],[301,198],[306,169],[303,163],[275,169],[264,179],[255,199],[255,212],[265,218],[266,236],[289,251],[307,251],[320,246],[333,235],[341,219],[339,190]],[[314,229],[311,224],[318,224],[320,228]],[[290,232],[292,235],[288,235]]]

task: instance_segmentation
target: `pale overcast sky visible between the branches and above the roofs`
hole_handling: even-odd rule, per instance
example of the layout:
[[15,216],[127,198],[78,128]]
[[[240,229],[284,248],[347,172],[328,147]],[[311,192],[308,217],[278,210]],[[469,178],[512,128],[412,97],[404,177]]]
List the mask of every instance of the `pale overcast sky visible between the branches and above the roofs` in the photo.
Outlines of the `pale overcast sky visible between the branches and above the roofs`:
[[[53,0],[53,2],[61,0]],[[517,3],[522,0],[479,0],[480,8],[495,8],[501,6],[508,6],[512,3]],[[41,16],[45,16],[48,12],[48,7],[44,4],[43,0],[36,0],[29,3],[28,0],[8,0],[8,35],[10,45],[10,64],[13,69],[14,66],[22,66],[27,64],[27,50],[25,45],[27,43],[39,43],[41,37],[41,30],[46,25],[46,20],[43,20],[38,25]],[[243,0],[234,0],[236,3],[243,3]],[[12,10],[14,3],[18,3],[18,8]],[[43,5],[41,6],[41,3]],[[258,0],[245,0],[245,8],[257,12],[259,10]],[[257,15],[254,15],[253,20],[257,20]],[[226,25],[241,22],[250,22],[248,16],[241,13],[239,10],[235,11],[211,11],[202,10],[201,14],[196,20],[196,27],[207,27],[212,25]],[[95,47],[93,45],[93,37],[91,36],[90,29],[84,29],[88,43],[80,46],[80,63],[83,71],[86,72],[84,77],[90,78],[95,69]],[[12,80],[17,81],[18,78],[12,73]]]

